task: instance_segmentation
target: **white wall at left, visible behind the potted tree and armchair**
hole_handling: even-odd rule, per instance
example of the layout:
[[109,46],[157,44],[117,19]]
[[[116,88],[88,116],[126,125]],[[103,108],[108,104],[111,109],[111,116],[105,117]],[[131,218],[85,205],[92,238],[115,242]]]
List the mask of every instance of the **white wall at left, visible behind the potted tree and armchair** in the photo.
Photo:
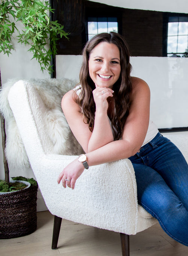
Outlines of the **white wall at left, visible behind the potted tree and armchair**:
[[[14,37],[16,36],[16,33]],[[6,83],[8,79],[17,78],[29,79],[29,78],[49,78],[50,75],[47,71],[42,73],[38,61],[31,60],[32,54],[28,52],[29,47],[22,44],[18,44],[13,40],[14,51],[12,54],[4,55],[0,53],[0,71],[2,84]],[[0,136],[0,145],[2,145],[2,137]],[[25,176],[27,178],[35,178],[33,171],[29,168],[15,169],[13,166],[9,166],[10,177]],[[0,179],[5,179],[4,166],[3,166],[3,151],[0,147]],[[38,211],[46,210],[46,206],[40,191],[38,192],[37,201]]]

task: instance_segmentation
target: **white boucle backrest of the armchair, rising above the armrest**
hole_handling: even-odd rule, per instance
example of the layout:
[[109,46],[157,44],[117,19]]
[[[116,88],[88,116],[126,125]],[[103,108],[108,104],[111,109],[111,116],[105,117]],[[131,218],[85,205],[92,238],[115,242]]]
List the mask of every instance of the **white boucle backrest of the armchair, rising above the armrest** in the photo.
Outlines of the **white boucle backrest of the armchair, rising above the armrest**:
[[35,88],[26,81],[18,81],[11,87],[8,100],[29,159],[37,162],[40,155],[52,153],[53,144],[44,120],[47,109]]

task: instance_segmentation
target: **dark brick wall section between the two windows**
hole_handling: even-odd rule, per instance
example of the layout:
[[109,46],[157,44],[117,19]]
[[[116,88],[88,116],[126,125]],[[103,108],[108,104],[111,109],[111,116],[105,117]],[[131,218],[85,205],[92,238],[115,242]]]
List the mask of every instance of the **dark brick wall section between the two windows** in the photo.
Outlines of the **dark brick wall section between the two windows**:
[[161,57],[162,32],[162,12],[124,9],[122,34],[132,56]]

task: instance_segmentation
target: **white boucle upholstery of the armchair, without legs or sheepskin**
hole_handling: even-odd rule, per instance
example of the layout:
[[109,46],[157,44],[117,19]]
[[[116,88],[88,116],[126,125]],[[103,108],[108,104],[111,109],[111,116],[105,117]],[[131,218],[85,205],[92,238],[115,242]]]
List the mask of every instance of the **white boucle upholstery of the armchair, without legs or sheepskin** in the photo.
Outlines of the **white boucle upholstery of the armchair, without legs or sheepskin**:
[[15,83],[8,100],[42,196],[53,215],[127,235],[156,223],[138,206],[129,159],[89,167],[77,179],[74,190],[57,184],[59,173],[75,156],[53,152],[44,101],[28,81]]

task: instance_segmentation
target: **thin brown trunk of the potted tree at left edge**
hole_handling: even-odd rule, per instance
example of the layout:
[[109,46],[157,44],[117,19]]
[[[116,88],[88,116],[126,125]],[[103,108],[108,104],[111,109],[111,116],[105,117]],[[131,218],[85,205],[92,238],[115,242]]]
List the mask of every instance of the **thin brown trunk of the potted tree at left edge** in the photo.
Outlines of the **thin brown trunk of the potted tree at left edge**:
[[[2,88],[1,71],[0,71],[0,88]],[[5,168],[5,181],[9,184],[9,167],[8,167],[8,162],[6,160],[6,155],[5,155],[5,146],[6,146],[5,118],[3,117],[2,113],[0,113],[0,116],[1,116],[1,132],[2,132],[2,147],[3,147],[3,163]]]

